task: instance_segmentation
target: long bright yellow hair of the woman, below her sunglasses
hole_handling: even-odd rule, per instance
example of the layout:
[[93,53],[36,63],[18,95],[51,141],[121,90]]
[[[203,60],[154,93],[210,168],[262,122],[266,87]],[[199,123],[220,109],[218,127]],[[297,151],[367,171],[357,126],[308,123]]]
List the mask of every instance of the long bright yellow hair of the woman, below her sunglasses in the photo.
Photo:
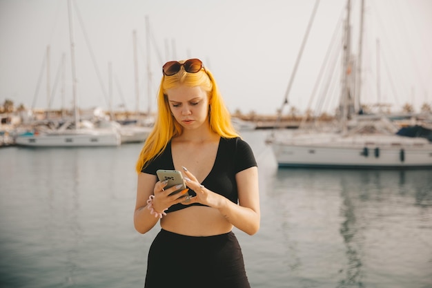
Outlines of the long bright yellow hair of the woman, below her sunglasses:
[[[180,61],[184,62],[184,61]],[[166,90],[176,88],[180,85],[190,87],[200,86],[208,95],[210,129],[224,138],[239,137],[239,134],[231,124],[231,117],[224,104],[224,99],[219,92],[212,73],[203,68],[197,73],[187,73],[182,67],[179,73],[172,76],[162,76],[161,84],[157,94],[157,118],[153,131],[148,135],[144,146],[139,153],[136,170],[141,170],[160,155],[173,137],[181,135],[183,128],[171,115]]]

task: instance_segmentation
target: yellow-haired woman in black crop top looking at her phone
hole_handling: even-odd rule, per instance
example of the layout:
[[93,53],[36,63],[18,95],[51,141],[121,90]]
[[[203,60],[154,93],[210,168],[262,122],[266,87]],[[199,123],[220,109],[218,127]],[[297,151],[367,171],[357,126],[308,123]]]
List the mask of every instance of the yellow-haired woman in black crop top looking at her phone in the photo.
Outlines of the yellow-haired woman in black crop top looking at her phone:
[[[162,72],[157,120],[137,161],[135,229],[146,233],[159,218],[161,225],[145,287],[250,287],[231,230],[259,229],[251,147],[233,129],[202,61],[169,61]],[[164,189],[158,169],[182,171],[188,194],[170,195],[178,188]]]

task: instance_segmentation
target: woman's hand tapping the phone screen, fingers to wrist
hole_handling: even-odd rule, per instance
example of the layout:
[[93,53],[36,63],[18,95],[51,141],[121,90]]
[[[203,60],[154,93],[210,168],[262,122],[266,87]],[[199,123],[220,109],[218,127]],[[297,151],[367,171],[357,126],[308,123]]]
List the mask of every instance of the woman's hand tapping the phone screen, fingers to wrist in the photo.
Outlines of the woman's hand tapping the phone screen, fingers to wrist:
[[222,204],[222,201],[225,199],[223,196],[206,189],[204,185],[199,184],[197,178],[192,173],[190,173],[186,167],[181,166],[181,168],[183,168],[183,171],[186,175],[186,177],[184,177],[186,180],[186,186],[197,193],[196,196],[190,197],[189,200],[183,201],[181,204],[188,205],[200,203],[214,208],[217,208]]

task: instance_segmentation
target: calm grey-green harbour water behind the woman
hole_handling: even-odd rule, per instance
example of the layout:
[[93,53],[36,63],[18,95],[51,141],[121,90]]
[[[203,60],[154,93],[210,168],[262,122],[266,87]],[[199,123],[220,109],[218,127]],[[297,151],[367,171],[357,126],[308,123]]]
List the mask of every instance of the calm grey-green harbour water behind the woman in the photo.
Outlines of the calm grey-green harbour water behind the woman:
[[[432,287],[431,170],[277,169],[265,133],[262,226],[235,230],[252,287]],[[0,287],[143,287],[140,148],[0,149]]]

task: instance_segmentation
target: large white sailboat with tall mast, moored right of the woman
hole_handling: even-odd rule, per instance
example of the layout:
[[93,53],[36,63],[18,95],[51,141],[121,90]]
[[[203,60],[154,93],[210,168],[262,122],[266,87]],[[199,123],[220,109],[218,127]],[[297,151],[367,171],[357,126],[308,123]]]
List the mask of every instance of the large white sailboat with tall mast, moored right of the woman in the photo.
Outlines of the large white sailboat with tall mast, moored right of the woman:
[[[347,2],[344,71],[351,71],[351,1]],[[359,54],[361,57],[361,49]],[[395,135],[397,129],[383,115],[367,117],[352,113],[353,76],[346,73],[342,77],[340,126],[326,127],[327,131],[306,128],[289,133],[274,131],[266,142],[271,145],[278,166],[364,169],[432,167],[432,144],[428,140]],[[360,77],[360,73],[357,77]],[[359,95],[358,89],[356,92]]]

